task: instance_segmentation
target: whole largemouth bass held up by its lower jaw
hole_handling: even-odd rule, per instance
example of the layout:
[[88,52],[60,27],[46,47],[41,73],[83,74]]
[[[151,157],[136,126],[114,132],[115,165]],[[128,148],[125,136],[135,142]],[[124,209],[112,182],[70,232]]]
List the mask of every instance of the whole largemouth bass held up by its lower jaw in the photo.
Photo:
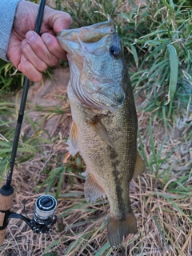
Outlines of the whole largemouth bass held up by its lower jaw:
[[130,181],[145,170],[122,44],[110,20],[62,30],[57,38],[70,66],[70,143],[86,164],[84,194],[91,203],[107,197],[108,240],[110,246],[121,246],[126,234],[137,232]]

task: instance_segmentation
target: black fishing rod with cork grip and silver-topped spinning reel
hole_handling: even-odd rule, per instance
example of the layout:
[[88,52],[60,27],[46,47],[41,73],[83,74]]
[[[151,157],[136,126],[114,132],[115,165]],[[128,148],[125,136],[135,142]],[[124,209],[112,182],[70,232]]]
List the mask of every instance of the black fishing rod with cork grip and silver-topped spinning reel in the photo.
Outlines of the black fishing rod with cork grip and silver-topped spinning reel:
[[[39,4],[38,17],[35,26],[35,32],[40,33],[43,12],[45,9],[46,0],[41,0]],[[34,230],[34,233],[45,233],[51,230],[51,227],[57,221],[57,216],[54,215],[54,211],[57,207],[57,201],[54,197],[50,195],[42,195],[37,198],[34,206],[34,218],[26,218],[22,214],[16,214],[10,211],[10,208],[13,205],[14,200],[14,188],[11,186],[11,180],[14,172],[14,162],[18,150],[18,140],[22,127],[22,119],[24,116],[26,98],[30,86],[30,80],[25,77],[23,92],[22,92],[22,101],[20,104],[20,109],[18,113],[18,121],[14,134],[14,143],[10,157],[10,168],[9,174],[6,178],[6,185],[2,186],[0,189],[0,246],[2,245],[5,236],[6,229],[9,222],[9,218],[20,218],[27,225],[30,226],[31,230]]]

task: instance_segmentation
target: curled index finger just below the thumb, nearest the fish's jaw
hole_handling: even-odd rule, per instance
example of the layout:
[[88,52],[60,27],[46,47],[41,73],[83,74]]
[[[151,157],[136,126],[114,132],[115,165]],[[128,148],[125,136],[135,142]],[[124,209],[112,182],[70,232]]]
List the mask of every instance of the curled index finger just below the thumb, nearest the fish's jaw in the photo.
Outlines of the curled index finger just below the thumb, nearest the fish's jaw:
[[66,51],[62,49],[58,43],[58,39],[52,34],[42,34],[42,41],[45,43],[50,54],[53,54],[57,58],[66,59]]

